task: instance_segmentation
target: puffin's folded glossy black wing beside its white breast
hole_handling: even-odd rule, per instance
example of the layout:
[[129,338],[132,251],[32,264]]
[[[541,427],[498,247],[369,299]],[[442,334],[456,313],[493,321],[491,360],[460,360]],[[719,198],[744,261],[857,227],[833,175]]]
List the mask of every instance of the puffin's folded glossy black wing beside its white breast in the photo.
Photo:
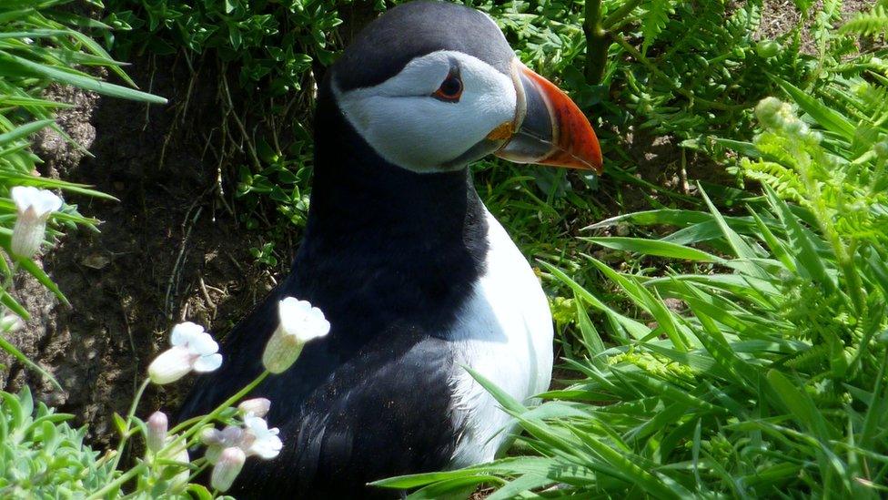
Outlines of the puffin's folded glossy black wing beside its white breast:
[[251,459],[235,496],[392,497],[367,483],[448,464],[456,441],[449,349],[414,332],[380,341],[341,365],[296,412],[269,415],[284,450],[270,462]]

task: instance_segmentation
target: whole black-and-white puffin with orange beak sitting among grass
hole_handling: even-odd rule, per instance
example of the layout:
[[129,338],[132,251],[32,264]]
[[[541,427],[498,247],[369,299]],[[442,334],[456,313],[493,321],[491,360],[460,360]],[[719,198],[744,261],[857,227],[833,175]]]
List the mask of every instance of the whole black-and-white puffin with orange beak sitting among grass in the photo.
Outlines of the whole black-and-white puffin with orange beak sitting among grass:
[[600,173],[589,119],[463,5],[416,0],[368,24],[318,86],[308,223],[291,271],[222,341],[178,420],[263,371],[278,301],[320,308],[326,337],[248,397],[284,448],[237,498],[387,498],[368,483],[493,460],[514,422],[465,367],[519,401],[549,388],[540,281],[484,206],[488,155]]

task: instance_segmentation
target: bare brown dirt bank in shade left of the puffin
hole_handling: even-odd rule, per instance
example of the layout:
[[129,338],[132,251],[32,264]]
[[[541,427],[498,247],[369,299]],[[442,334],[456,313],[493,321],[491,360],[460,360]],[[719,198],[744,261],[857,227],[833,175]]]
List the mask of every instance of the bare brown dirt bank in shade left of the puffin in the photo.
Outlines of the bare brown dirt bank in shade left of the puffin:
[[[872,2],[846,2],[849,12]],[[773,1],[763,16],[762,36],[790,26],[792,2]],[[142,57],[127,71],[143,89],[167,97],[166,107],[98,98],[55,88],[51,97],[76,104],[60,125],[92,156],[46,133],[37,152],[42,175],[96,186],[119,202],[68,195],[82,213],[100,219],[100,232],[71,231],[44,261],[71,302],[60,305],[32,280],[15,283],[34,318],[10,339],[55,374],[55,391],[33,372],[0,355],[0,388],[28,383],[45,403],[89,423],[94,444],[114,439],[113,413],[126,413],[146,363],[166,348],[178,321],[196,321],[227,332],[286,270],[262,270],[249,254],[258,234],[237,222],[231,186],[219,184],[214,154],[220,136],[218,75],[183,59]],[[184,112],[187,111],[187,112]],[[632,154],[651,182],[677,182],[680,153],[669,138],[639,138]],[[647,172],[647,173],[645,173]],[[220,193],[221,186],[221,193]],[[640,196],[640,200],[643,197]],[[232,207],[235,207],[232,209]],[[294,229],[293,240],[298,240]],[[139,413],[175,408],[187,384],[149,392]]]

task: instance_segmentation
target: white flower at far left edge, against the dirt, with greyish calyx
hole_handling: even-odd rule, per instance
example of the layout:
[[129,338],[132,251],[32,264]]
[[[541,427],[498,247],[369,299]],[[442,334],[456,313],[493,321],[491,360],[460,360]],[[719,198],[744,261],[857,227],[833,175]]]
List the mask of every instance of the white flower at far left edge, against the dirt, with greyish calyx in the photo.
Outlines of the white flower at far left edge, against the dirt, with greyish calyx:
[[11,191],[18,217],[15,219],[10,250],[25,259],[31,258],[46,233],[49,214],[62,208],[62,199],[52,191],[32,186],[15,186]]

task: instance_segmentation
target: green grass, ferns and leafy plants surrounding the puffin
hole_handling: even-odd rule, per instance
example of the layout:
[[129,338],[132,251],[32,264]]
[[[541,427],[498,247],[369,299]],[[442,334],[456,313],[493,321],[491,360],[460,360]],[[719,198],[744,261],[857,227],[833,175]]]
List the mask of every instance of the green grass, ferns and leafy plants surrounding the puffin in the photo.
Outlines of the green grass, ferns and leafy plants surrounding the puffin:
[[[550,294],[562,380],[526,406],[479,378],[520,424],[510,456],[378,485],[415,498],[888,494],[888,3],[850,14],[839,0],[797,0],[773,38],[763,0],[467,4],[595,118],[606,175],[476,167],[480,195]],[[75,292],[10,252],[10,189],[106,196],[35,175],[31,135],[64,134],[52,113],[65,105],[42,92],[158,102],[106,49],[182,56],[195,78],[217,66],[224,181],[245,229],[267,241],[257,264],[286,266],[281,242],[308,210],[312,89],[392,3],[106,0],[92,17],[62,5],[0,10],[0,328],[28,314],[9,293],[15,272]],[[670,154],[651,175],[640,158],[657,141]],[[66,204],[46,236],[95,223]],[[28,362],[2,336],[0,347]],[[100,457],[26,389],[2,398],[0,496],[147,494],[209,466],[166,446],[118,470],[150,423],[117,418],[126,437]],[[237,415],[197,423],[244,424]],[[197,442],[197,426],[175,431]],[[181,495],[218,493],[186,483]]]

